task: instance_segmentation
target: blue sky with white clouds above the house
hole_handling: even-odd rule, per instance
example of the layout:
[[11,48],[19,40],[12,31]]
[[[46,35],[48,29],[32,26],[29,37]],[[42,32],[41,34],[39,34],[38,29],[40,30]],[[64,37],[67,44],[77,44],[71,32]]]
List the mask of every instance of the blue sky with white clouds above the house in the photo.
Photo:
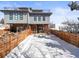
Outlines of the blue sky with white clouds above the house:
[[[68,7],[70,1],[0,1],[0,9],[4,7],[31,7],[34,9],[50,10],[50,23],[56,25],[56,28],[63,21],[75,20],[79,17],[79,11],[71,11]],[[3,13],[0,12],[0,19],[3,18]]]

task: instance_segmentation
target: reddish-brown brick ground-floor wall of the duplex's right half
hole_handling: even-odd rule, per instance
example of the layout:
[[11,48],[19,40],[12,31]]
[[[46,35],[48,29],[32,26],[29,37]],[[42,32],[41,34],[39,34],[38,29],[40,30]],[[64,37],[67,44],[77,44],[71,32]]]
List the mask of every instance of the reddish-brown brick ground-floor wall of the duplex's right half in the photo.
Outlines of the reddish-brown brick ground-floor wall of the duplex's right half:
[[47,33],[48,24],[30,24],[33,33]]

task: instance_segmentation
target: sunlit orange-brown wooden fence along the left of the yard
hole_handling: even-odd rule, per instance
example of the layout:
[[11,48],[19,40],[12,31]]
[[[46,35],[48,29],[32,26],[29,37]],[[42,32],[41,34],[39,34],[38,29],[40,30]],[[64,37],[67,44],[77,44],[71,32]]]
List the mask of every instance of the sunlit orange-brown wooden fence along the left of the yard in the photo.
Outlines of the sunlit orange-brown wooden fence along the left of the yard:
[[15,48],[31,33],[31,29],[17,33],[12,33],[9,31],[3,32],[3,34],[0,35],[0,58],[5,57],[13,48]]

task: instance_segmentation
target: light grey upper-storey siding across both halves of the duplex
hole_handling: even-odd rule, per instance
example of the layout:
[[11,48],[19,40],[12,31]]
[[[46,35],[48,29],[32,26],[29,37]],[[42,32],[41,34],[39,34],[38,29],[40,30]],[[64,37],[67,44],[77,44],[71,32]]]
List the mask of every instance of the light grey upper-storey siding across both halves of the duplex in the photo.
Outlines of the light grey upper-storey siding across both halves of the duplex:
[[45,21],[43,21],[43,16],[41,15],[41,21],[38,21],[38,16],[37,16],[37,21],[34,21],[34,16],[30,16],[28,13],[23,13],[23,20],[20,19],[15,19],[15,13],[13,13],[13,20],[9,19],[9,13],[5,13],[4,18],[5,18],[5,23],[23,23],[23,24],[49,24],[50,17],[45,16]]

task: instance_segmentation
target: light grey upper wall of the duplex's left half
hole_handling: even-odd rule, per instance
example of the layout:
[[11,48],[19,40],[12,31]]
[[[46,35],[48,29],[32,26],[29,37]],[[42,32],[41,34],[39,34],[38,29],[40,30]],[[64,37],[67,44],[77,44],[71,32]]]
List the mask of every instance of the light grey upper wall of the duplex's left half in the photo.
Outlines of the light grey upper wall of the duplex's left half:
[[5,23],[27,23],[27,13],[23,13],[23,20],[15,19],[15,13],[13,12],[13,20],[9,19],[9,13],[4,14]]

